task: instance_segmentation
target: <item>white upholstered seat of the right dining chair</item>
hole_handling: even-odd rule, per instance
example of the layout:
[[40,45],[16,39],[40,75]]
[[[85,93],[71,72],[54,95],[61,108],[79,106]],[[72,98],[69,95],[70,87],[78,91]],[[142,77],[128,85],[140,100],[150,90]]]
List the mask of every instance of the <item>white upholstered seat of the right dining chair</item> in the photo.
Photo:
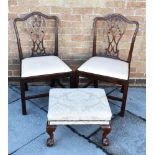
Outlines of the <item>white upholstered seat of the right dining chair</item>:
[[105,57],[92,57],[79,68],[79,71],[118,79],[128,79],[128,63]]

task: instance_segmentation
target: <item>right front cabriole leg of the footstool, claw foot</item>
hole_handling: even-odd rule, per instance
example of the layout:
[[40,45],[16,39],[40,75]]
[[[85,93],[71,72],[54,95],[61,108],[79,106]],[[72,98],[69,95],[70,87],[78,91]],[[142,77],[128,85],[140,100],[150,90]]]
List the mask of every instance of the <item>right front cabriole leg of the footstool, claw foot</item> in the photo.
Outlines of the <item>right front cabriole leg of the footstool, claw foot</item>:
[[109,145],[109,139],[107,137],[107,135],[111,132],[111,126],[110,125],[103,125],[101,126],[102,130],[103,130],[103,134],[102,134],[102,144],[103,146],[108,146]]

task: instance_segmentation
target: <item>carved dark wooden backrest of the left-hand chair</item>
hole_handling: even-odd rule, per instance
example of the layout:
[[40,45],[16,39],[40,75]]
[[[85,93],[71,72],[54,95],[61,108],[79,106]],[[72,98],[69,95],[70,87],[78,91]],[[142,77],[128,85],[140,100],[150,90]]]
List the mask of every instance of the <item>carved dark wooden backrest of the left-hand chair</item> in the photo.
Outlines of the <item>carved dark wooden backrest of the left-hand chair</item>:
[[[44,46],[44,40],[46,39],[46,34],[48,34],[48,30],[51,32],[51,25],[48,23],[49,20],[54,21],[54,51],[53,55],[58,56],[58,24],[59,19],[57,16],[47,16],[41,12],[32,12],[26,15],[23,18],[14,19],[14,29],[17,38],[17,45],[19,51],[20,60],[23,59],[23,49],[21,45],[21,39],[19,33],[21,29],[25,29],[24,32],[28,34],[31,42],[31,55],[30,56],[46,56],[51,55],[52,51],[47,53],[46,48]],[[18,27],[17,22],[22,22],[21,27]],[[21,32],[22,33],[22,32]],[[51,32],[52,33],[52,32]],[[24,38],[24,36],[23,36]],[[51,38],[48,38],[51,39]],[[52,44],[50,44],[52,46]]]

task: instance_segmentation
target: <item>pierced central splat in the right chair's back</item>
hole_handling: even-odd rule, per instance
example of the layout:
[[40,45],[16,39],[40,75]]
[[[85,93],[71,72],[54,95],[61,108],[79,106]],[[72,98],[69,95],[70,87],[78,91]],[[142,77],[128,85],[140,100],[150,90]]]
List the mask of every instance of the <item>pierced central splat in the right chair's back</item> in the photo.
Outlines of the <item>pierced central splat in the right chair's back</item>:
[[126,23],[120,18],[111,18],[105,21],[105,32],[108,40],[108,47],[104,55],[107,57],[119,58],[118,44],[126,31]]

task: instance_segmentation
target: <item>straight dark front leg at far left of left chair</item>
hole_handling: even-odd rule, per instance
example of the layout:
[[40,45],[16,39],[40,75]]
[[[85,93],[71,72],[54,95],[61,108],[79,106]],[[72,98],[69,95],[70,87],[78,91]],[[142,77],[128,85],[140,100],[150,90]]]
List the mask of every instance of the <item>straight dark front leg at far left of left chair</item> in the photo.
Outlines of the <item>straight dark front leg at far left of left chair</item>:
[[25,83],[20,81],[21,100],[22,100],[22,114],[26,115],[26,99],[25,99]]

